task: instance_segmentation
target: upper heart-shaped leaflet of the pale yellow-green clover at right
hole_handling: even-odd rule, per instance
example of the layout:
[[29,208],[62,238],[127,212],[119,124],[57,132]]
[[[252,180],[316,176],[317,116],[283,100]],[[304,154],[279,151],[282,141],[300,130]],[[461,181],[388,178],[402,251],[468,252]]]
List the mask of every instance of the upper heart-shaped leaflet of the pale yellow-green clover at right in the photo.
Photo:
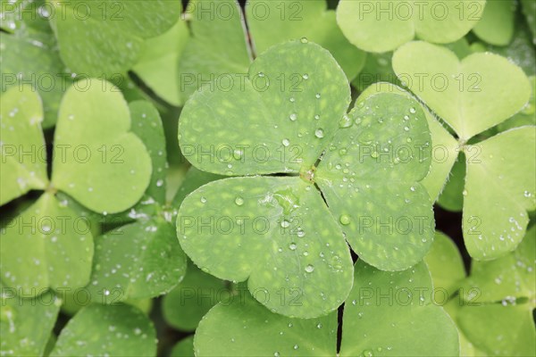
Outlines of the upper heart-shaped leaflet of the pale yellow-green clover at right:
[[460,62],[448,49],[418,41],[395,52],[393,68],[462,142],[514,115],[531,95],[523,71],[496,54]]

